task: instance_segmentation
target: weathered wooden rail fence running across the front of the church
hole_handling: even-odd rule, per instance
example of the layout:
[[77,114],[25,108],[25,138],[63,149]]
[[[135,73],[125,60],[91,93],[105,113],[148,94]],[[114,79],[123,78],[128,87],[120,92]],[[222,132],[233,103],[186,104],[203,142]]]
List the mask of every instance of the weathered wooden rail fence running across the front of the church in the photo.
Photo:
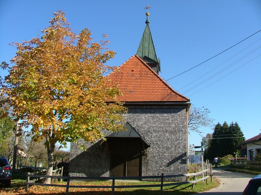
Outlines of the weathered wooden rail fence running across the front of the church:
[[[33,175],[30,173],[27,173],[27,179],[26,179],[26,188],[25,191],[28,191],[29,185],[40,185],[40,186],[56,186],[56,187],[66,187],[66,195],[69,194],[69,188],[111,188],[112,189],[112,195],[114,195],[115,188],[139,188],[139,187],[161,187],[161,194],[163,194],[163,187],[164,186],[173,186],[173,185],[182,185],[182,184],[192,184],[192,188],[194,188],[195,183],[206,180],[206,184],[208,183],[208,172],[210,170],[206,169],[204,171],[195,172],[195,173],[188,173],[188,174],[177,174],[177,175],[165,175],[162,173],[161,176],[139,176],[139,177],[71,177],[68,175],[68,177],[64,176],[43,176],[43,175]],[[197,176],[201,176],[205,173],[205,177],[197,179]],[[174,183],[163,183],[164,178],[173,178],[173,177],[190,177],[193,176],[192,181],[184,181],[184,182],[174,182]],[[67,184],[42,184],[42,183],[33,183],[34,180],[29,180],[30,177],[39,177],[39,178],[52,178],[52,179],[67,179]],[[143,180],[143,179],[161,179],[161,184],[150,184],[150,185],[119,185],[115,186],[115,180],[121,179],[121,180]],[[111,186],[78,186],[78,185],[70,185],[70,180],[112,180]]]

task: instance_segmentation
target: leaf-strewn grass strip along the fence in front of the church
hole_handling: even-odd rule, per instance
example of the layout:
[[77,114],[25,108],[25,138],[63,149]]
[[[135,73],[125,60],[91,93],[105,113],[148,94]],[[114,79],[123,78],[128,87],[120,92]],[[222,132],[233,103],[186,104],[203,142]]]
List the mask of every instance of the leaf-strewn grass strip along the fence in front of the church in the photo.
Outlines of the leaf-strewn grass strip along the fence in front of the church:
[[[191,177],[190,179],[192,179]],[[64,195],[66,188],[65,187],[49,187],[49,186],[29,186],[28,193],[25,193],[25,182],[26,174],[25,173],[12,173],[11,186],[5,187],[4,184],[0,184],[0,194],[52,194],[52,195]],[[164,182],[169,183],[169,182]],[[66,185],[66,182],[56,182],[55,184]],[[160,184],[156,181],[138,181],[138,182],[115,182],[115,186],[119,185],[129,185],[129,188],[115,189],[115,195],[153,195],[160,194],[160,187],[143,187],[143,188],[133,188],[132,185],[150,185],[150,184]],[[84,186],[111,186],[111,181],[92,181],[92,182],[70,182],[70,185],[84,185]],[[164,195],[170,194],[192,194],[197,192],[207,191],[219,185],[218,180],[214,179],[214,182],[208,182],[206,185],[205,181],[200,181],[196,183],[194,189],[192,189],[192,184],[183,184],[183,185],[174,185],[163,187]],[[111,194],[111,189],[102,189],[102,188],[70,188],[70,195],[81,195],[81,194]]]

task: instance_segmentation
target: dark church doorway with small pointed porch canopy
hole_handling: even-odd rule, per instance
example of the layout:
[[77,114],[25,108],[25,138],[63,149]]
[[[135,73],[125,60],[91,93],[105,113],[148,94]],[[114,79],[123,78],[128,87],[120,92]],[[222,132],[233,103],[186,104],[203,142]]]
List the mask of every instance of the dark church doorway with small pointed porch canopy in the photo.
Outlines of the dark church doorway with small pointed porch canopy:
[[110,175],[117,177],[141,176],[142,156],[150,145],[125,124],[126,131],[114,132],[106,137],[110,152]]

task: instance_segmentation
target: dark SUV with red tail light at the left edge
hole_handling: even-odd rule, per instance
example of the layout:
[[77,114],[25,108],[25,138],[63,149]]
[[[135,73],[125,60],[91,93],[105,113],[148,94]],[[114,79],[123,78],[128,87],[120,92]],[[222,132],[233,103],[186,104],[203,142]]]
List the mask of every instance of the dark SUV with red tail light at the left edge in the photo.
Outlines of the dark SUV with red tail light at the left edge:
[[6,186],[11,185],[11,166],[7,158],[0,155],[0,183],[4,183]]

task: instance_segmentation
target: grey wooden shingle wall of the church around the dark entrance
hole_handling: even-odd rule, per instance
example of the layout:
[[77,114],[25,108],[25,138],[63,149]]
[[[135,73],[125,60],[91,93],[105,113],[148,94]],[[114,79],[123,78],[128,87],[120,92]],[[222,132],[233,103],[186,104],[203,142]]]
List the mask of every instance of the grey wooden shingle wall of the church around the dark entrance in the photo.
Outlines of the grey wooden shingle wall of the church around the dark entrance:
[[[144,105],[128,106],[124,114],[128,122],[151,146],[142,159],[142,175],[170,175],[187,173],[186,106]],[[107,132],[106,134],[110,134]],[[78,140],[88,147],[87,152],[71,143],[71,176],[109,176],[110,155],[105,144],[99,145]],[[186,178],[173,178],[185,181]]]

